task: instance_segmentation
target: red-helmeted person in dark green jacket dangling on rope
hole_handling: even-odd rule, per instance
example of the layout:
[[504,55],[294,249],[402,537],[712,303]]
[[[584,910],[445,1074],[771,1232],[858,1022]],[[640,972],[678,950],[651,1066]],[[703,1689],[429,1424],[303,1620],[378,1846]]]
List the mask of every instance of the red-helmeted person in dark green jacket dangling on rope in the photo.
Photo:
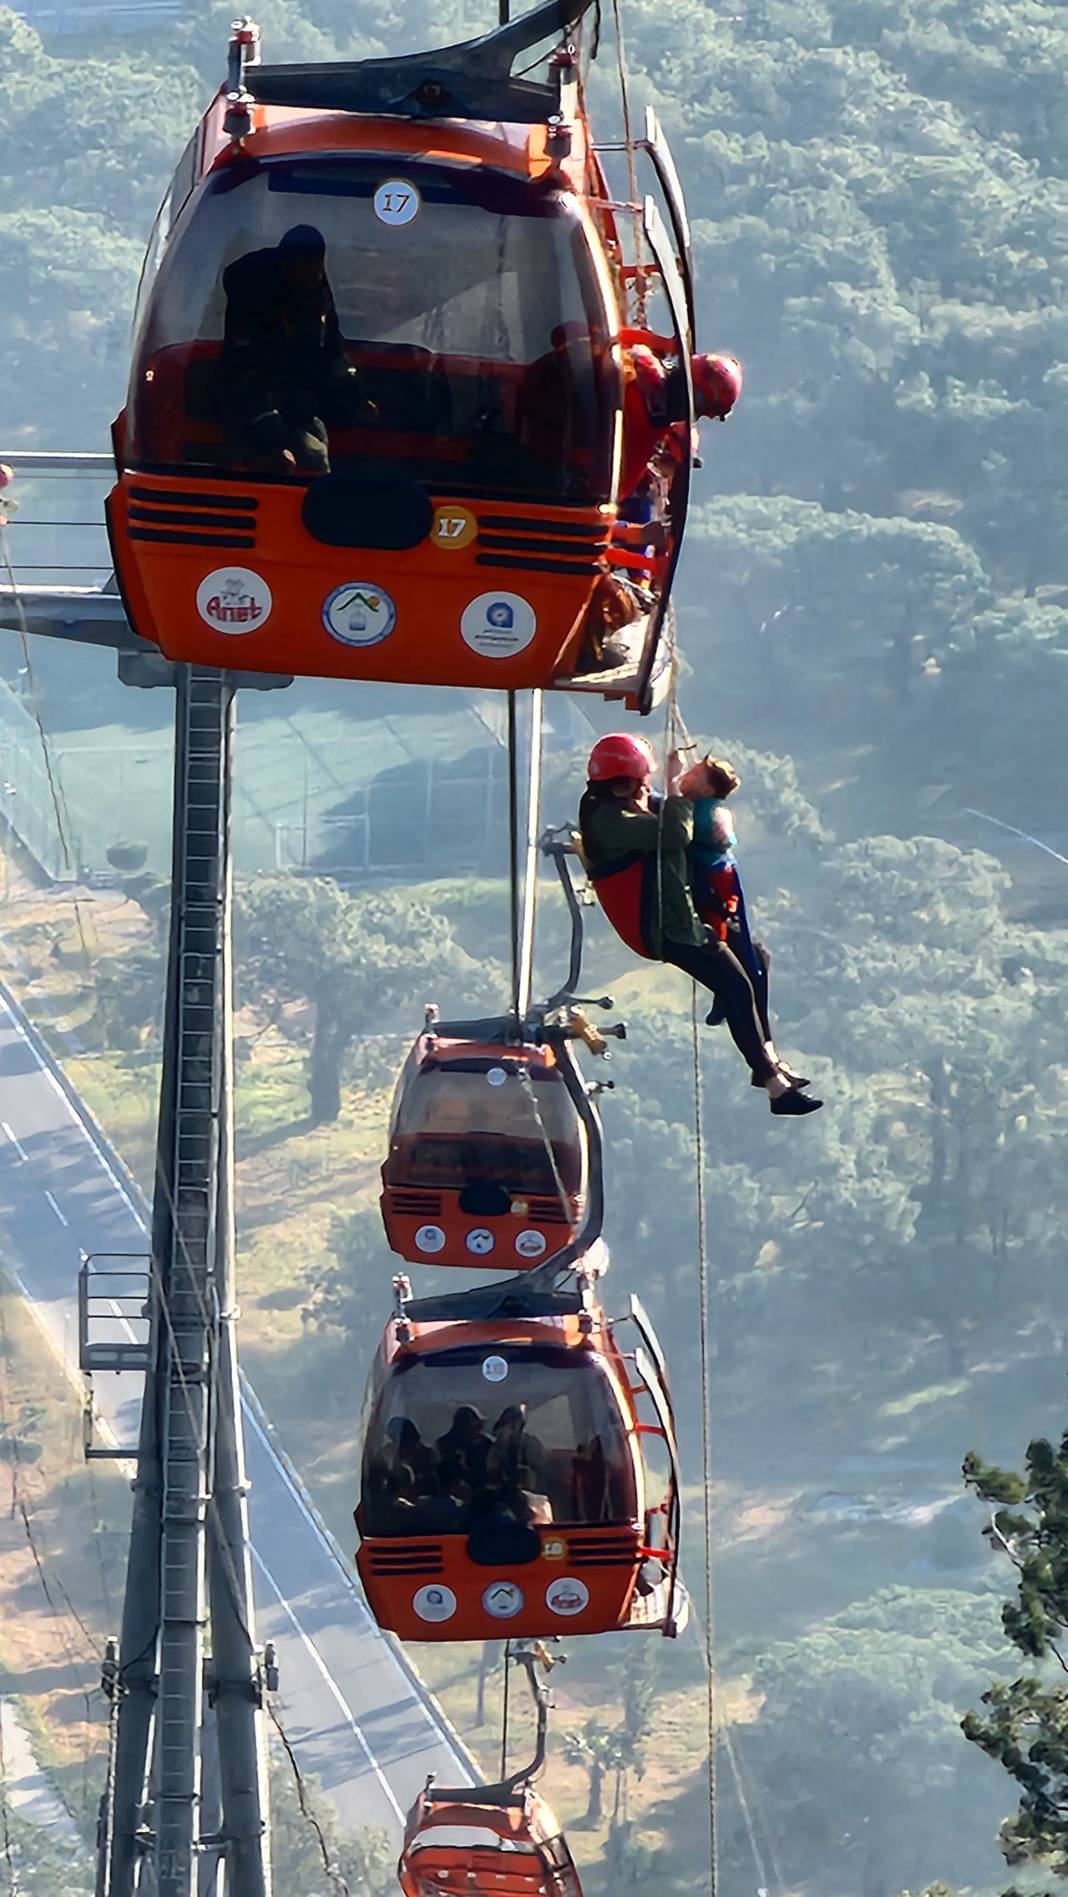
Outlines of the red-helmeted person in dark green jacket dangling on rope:
[[653,747],[626,732],[599,738],[590,751],[579,827],[598,901],[628,948],[681,967],[711,990],[751,1083],[766,1091],[772,1114],[816,1114],[823,1102],[801,1093],[782,1072],[774,1045],[770,1051],[764,1045],[753,983],[742,962],[694,909],[689,861],[694,806],[677,791],[677,753],[668,761],[664,799],[651,791],[654,768]]

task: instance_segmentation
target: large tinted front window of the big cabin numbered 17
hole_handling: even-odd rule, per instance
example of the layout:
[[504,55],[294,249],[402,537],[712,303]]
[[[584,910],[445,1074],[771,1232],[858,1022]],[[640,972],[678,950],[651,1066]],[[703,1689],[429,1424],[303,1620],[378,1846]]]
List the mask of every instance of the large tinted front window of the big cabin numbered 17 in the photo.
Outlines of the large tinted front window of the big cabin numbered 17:
[[243,480],[377,469],[446,491],[609,499],[620,389],[573,201],[412,165],[417,209],[396,222],[396,169],[211,173],[138,330],[135,465]]

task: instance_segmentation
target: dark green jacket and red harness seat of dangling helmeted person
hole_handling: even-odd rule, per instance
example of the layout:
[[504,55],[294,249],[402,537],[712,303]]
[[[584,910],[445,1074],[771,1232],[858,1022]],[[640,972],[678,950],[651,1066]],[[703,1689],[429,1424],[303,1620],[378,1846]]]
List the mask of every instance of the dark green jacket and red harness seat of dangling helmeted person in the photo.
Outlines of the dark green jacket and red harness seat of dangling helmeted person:
[[609,922],[635,954],[660,960],[664,941],[706,941],[691,895],[689,797],[653,799],[649,810],[594,785],[579,806],[582,856]]

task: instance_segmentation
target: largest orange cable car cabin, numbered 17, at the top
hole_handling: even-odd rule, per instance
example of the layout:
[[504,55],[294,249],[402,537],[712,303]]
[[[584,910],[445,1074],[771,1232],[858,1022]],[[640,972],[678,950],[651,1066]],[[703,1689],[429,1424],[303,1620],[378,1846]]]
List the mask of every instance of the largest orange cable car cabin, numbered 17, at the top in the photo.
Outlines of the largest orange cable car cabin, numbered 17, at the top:
[[649,199],[653,262],[626,264],[575,47],[544,83],[510,76],[588,4],[353,64],[262,66],[235,28],[152,233],[114,427],[116,577],[169,658],[639,709],[666,689],[691,455],[628,518],[624,383],[654,283],[681,438],[677,176],[651,120],[673,241]]

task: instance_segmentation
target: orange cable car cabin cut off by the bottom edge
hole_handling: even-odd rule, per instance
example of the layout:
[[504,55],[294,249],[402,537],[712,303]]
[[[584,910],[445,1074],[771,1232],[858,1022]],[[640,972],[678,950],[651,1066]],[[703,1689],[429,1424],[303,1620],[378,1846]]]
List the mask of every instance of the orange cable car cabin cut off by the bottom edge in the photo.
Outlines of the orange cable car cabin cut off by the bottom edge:
[[497,1802],[427,1787],[396,1874],[404,1897],[582,1897],[567,1840],[531,1785]]

